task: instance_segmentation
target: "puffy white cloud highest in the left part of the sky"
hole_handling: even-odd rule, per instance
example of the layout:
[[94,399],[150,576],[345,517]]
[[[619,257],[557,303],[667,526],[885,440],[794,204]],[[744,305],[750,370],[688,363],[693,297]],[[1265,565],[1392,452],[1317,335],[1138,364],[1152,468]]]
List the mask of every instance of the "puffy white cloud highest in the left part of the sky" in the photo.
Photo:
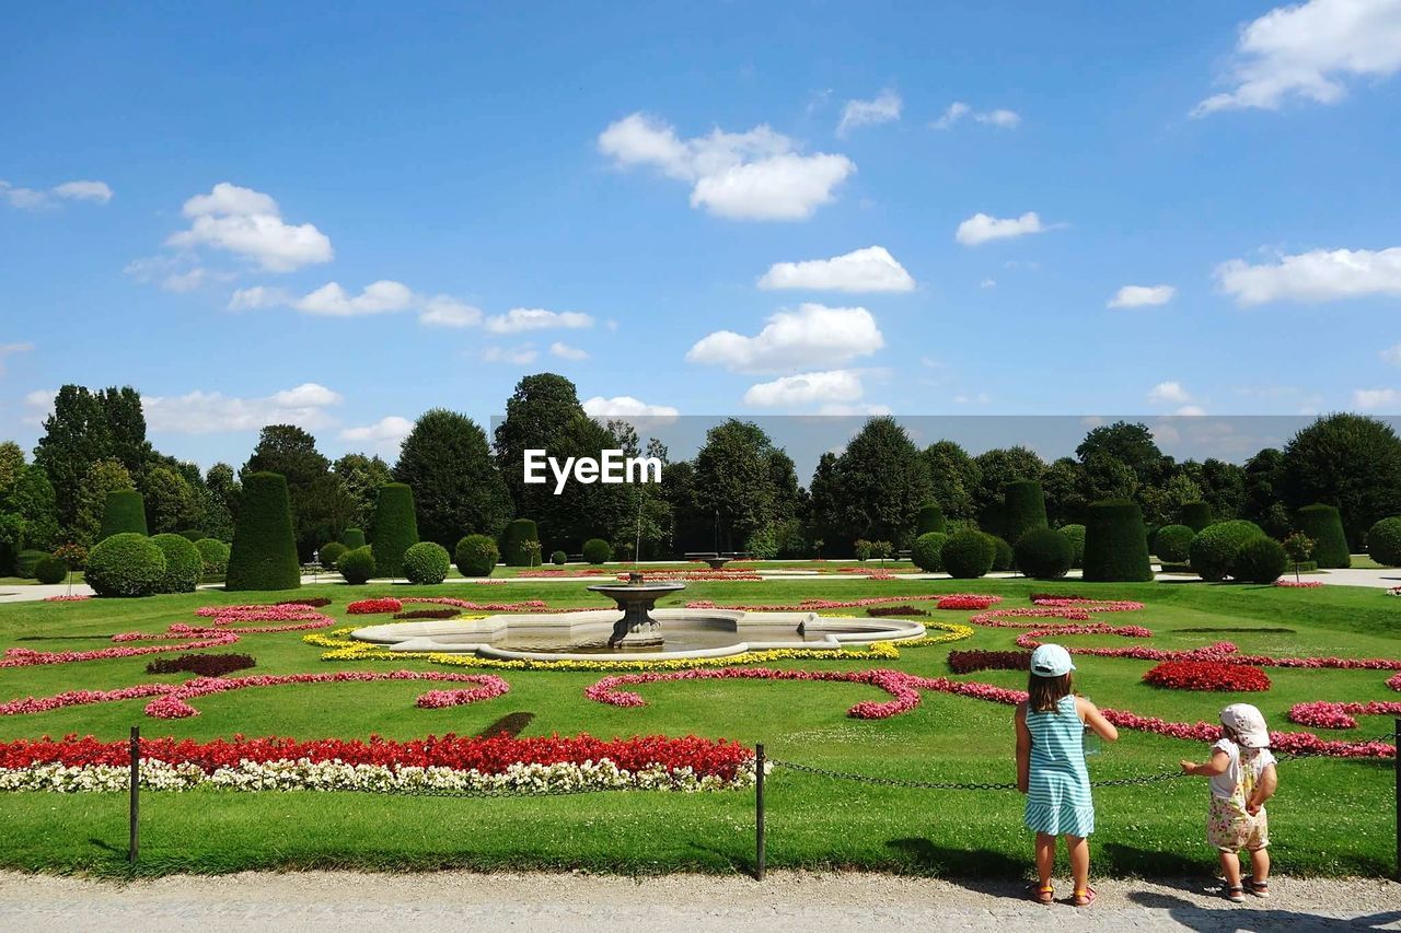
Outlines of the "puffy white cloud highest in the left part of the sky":
[[324,233],[283,221],[277,202],[251,188],[219,182],[207,195],[186,200],[184,213],[189,230],[172,234],[167,245],[223,249],[269,272],[293,272],[335,256]]

